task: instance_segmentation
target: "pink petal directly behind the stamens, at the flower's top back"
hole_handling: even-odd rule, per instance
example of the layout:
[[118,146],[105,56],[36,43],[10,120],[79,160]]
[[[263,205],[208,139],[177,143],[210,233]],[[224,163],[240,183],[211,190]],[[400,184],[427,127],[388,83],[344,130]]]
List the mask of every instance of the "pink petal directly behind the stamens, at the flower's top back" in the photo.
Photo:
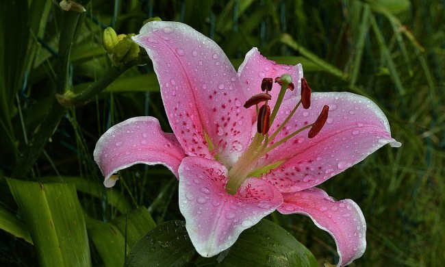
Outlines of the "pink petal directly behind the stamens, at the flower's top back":
[[[300,95],[301,78],[303,78],[303,68],[301,64],[295,66],[277,64],[277,62],[273,60],[264,58],[258,49],[254,47],[251,51],[247,52],[244,62],[238,69],[241,84],[248,92],[249,97],[262,92],[261,82],[263,78],[272,78],[275,80],[275,77],[279,77],[285,73],[288,73],[292,77],[295,89],[293,91],[288,90],[284,95],[284,100]],[[280,88],[281,86],[279,86],[279,84],[274,83],[272,90],[269,92],[272,95],[272,99],[268,101],[271,109],[275,106]],[[255,108],[251,108],[251,110],[255,111]]]

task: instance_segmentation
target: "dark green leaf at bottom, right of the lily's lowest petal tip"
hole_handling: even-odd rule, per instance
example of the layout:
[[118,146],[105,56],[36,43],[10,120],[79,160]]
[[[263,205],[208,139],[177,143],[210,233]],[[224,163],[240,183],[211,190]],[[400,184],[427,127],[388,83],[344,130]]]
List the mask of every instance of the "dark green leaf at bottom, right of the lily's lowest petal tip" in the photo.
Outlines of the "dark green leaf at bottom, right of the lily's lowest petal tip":
[[312,253],[288,231],[269,220],[243,231],[222,266],[318,266]]

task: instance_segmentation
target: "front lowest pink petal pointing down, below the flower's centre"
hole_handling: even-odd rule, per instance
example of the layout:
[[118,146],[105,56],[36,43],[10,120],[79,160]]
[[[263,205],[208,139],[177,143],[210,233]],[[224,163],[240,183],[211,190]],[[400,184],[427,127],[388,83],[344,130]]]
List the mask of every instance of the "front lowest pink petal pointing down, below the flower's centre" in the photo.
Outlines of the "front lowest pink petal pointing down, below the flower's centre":
[[246,179],[235,195],[226,192],[226,183],[227,168],[214,160],[186,157],[179,166],[179,209],[203,257],[228,249],[283,203],[280,192],[262,179]]

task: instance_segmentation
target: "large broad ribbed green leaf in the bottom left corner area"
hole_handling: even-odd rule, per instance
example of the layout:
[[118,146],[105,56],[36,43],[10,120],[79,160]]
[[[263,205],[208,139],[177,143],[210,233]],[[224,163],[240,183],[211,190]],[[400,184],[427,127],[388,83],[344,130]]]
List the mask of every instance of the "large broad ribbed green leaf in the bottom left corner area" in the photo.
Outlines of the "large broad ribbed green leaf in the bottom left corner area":
[[40,266],[90,266],[84,214],[73,183],[7,179]]

